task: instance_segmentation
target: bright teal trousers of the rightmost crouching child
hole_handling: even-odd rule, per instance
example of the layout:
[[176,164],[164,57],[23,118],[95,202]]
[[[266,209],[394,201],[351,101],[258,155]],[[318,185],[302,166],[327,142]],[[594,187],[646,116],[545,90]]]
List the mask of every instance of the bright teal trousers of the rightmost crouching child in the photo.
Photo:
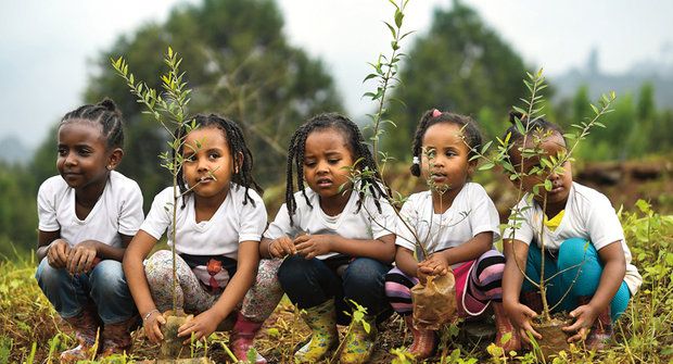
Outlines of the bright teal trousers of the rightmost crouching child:
[[[536,243],[531,243],[525,265],[525,275],[536,283],[539,281],[541,263],[542,250]],[[580,297],[594,296],[598,289],[602,266],[604,264],[600,262],[600,256],[598,256],[598,251],[596,251],[594,244],[580,238],[570,238],[563,241],[556,256],[545,253],[545,279],[558,272],[562,272],[547,283],[547,301],[549,305],[557,305],[563,294],[569,291],[563,301],[554,311],[570,312],[577,307]],[[536,288],[528,279],[524,279],[521,291],[532,290],[536,290]],[[624,313],[630,299],[631,292],[628,287],[622,280],[622,285],[610,303],[612,321],[615,321]]]

